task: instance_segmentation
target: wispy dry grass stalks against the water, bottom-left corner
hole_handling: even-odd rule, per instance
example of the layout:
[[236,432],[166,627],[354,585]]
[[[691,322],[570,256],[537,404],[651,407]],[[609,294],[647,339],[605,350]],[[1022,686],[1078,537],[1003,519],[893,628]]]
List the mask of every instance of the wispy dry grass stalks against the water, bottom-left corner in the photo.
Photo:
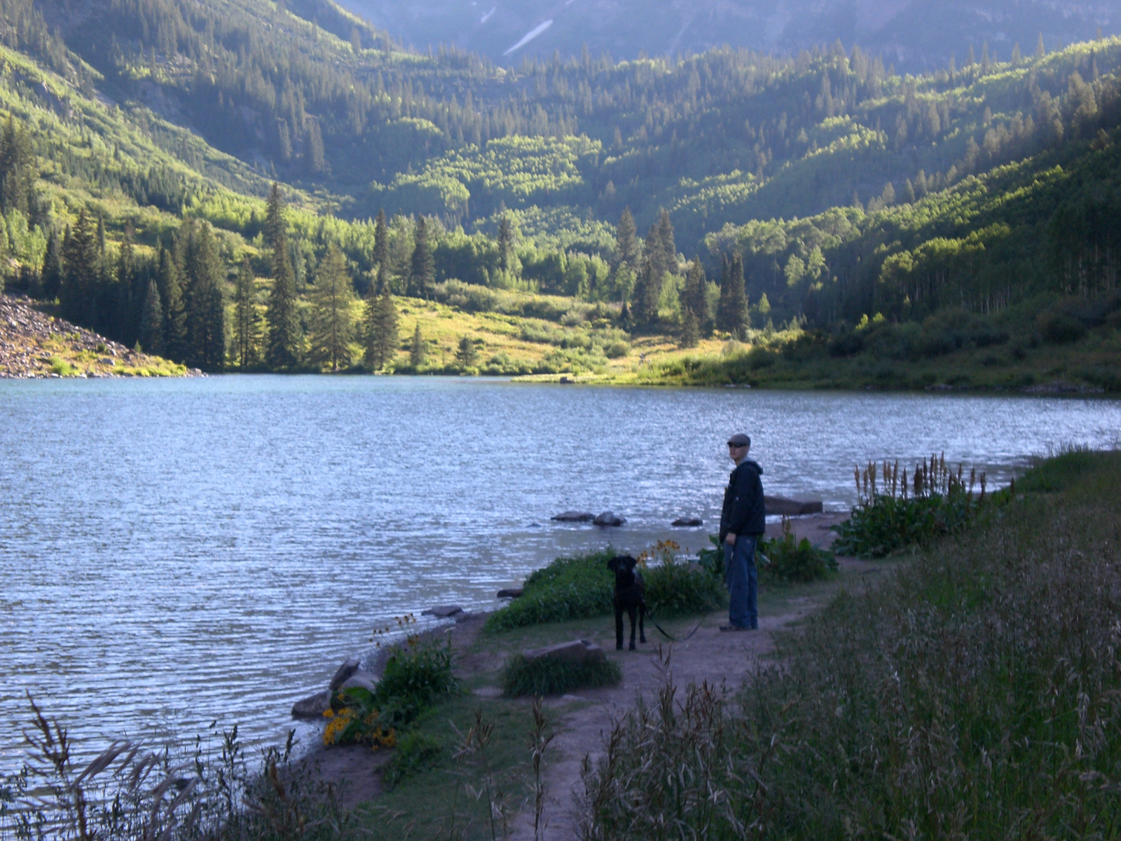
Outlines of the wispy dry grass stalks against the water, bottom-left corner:
[[247,761],[237,727],[217,747],[119,740],[78,765],[66,729],[31,709],[28,761],[0,777],[2,841],[326,841],[350,824],[334,789],[291,761],[293,732],[260,765]]

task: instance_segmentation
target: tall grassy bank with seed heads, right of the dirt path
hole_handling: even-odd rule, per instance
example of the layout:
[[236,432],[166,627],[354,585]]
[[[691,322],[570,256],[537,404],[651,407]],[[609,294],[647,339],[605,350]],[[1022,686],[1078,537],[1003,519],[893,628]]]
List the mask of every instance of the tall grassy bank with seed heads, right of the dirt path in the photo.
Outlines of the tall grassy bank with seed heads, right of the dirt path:
[[1119,837],[1121,454],[1085,458],[841,594],[734,703],[622,721],[584,838]]

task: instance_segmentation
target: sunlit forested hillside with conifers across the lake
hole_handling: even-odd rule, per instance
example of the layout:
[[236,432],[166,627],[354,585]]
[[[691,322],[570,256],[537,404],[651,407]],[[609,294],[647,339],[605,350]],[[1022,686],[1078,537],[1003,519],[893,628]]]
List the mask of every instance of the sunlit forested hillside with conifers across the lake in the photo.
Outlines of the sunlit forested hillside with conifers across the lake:
[[[1119,39],[921,76],[840,44],[501,68],[327,0],[0,16],[7,283],[192,366],[605,371],[643,335],[842,360],[1113,335]],[[437,348],[406,298],[475,321],[458,341],[433,322]],[[521,344],[469,336],[481,313]]]

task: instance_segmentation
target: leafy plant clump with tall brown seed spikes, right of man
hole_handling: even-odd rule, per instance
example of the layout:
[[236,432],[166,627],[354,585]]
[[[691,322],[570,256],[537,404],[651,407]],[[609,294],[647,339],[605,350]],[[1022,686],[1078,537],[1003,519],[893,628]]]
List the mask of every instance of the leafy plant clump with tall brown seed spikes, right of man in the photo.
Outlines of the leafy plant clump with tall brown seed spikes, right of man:
[[[985,503],[985,474],[961,465],[946,466],[946,455],[932,455],[915,468],[908,480],[899,462],[853,471],[859,502],[845,523],[834,526],[840,535],[834,552],[859,557],[883,557],[908,546],[924,546],[960,532]],[[980,493],[974,491],[980,488]]]

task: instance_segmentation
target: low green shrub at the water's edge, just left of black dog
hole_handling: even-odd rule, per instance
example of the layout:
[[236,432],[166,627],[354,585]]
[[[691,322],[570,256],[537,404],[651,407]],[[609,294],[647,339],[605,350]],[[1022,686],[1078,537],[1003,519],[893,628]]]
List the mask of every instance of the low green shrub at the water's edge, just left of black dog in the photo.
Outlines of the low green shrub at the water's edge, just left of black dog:
[[483,629],[494,634],[610,613],[615,579],[608,561],[614,554],[609,547],[591,555],[558,557],[526,579],[522,594],[491,613]]

